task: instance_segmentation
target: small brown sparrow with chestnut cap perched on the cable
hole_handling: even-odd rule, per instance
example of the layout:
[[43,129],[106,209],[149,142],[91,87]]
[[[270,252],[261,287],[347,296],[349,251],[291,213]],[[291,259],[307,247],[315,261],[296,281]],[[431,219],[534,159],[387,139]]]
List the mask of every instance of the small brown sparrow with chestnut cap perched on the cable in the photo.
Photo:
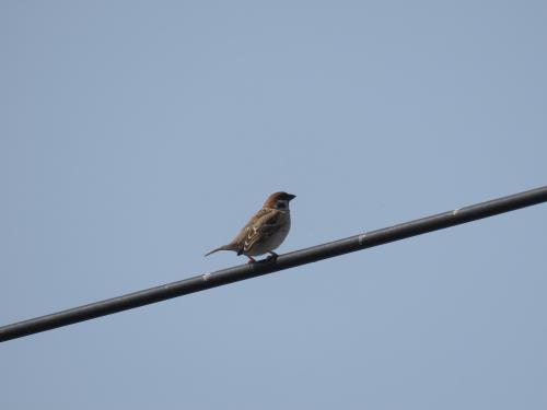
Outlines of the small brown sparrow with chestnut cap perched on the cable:
[[230,244],[218,247],[206,256],[219,250],[233,250],[237,256],[245,255],[249,263],[256,262],[253,256],[264,254],[270,254],[267,260],[275,260],[278,254],[274,249],[281,245],[291,229],[289,202],[294,198],[295,195],[287,192],[271,194]]

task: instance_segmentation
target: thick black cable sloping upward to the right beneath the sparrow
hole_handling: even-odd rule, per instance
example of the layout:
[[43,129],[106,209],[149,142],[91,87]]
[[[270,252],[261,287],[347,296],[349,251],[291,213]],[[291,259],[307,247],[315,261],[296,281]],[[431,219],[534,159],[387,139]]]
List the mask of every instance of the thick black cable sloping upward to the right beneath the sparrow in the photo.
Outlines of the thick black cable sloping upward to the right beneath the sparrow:
[[205,291],[206,289],[277,272],[300,265],[333,258],[351,251],[366,249],[389,242],[405,239],[410,236],[459,225],[462,223],[514,211],[520,208],[546,201],[547,186],[544,186],[509,197],[498,198],[491,201],[439,213],[437,215],[405,222],[391,227],[350,236],[345,239],[295,250],[290,254],[280,255],[276,261],[259,261],[253,265],[241,265],[212,273],[200,274],[161,286],[0,327],[0,342],[165,301],[188,293]]

